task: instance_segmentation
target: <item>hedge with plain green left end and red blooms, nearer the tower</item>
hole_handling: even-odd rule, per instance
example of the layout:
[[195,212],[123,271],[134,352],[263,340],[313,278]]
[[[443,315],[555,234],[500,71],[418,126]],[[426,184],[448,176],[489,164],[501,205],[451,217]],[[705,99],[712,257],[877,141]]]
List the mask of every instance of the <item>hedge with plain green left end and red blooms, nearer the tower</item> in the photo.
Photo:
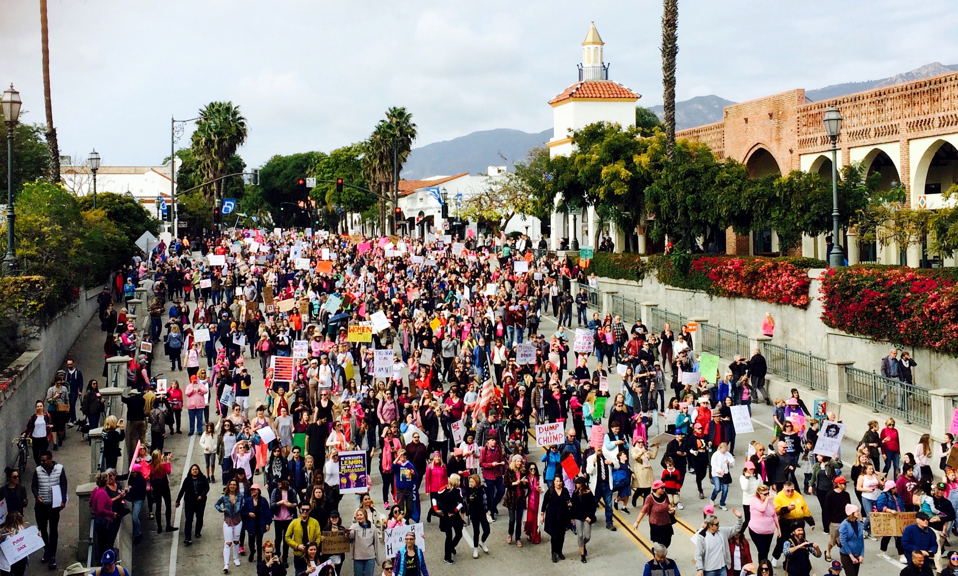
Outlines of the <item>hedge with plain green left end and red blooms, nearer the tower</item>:
[[809,305],[808,271],[826,262],[803,257],[695,255],[689,272],[673,266],[666,255],[597,253],[586,272],[596,276],[639,280],[654,274],[668,286],[697,290],[712,296],[761,299],[799,308]]

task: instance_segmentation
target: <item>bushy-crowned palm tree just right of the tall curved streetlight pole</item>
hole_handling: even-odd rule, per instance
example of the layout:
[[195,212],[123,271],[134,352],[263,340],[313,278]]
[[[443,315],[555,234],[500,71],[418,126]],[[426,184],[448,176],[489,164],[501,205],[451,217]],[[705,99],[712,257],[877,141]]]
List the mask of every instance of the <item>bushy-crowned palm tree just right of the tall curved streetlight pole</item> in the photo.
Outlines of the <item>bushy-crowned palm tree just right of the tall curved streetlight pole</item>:
[[[246,141],[246,119],[233,102],[210,102],[199,111],[199,120],[193,133],[194,157],[207,181],[226,175],[226,166],[237,148]],[[203,195],[210,199],[222,197],[223,181],[213,188],[203,188]]]

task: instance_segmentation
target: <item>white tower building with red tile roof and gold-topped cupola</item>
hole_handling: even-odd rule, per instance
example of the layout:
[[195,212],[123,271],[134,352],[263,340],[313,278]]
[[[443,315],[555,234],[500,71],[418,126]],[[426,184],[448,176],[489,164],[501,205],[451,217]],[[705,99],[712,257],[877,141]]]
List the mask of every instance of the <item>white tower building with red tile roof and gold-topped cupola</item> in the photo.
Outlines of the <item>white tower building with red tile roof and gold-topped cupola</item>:
[[[553,137],[546,144],[550,157],[570,154],[574,149],[572,132],[588,124],[617,122],[623,127],[635,125],[635,102],[641,96],[608,79],[604,45],[593,22],[582,41],[579,81],[549,100],[553,109]],[[568,238],[570,245],[573,240],[578,240],[582,246],[598,246],[601,227],[597,214],[591,207],[584,212],[577,217],[565,212],[553,213],[551,249],[557,250],[562,238]],[[609,225],[608,233],[615,244],[615,251],[621,252],[624,244],[622,234],[613,225]]]

